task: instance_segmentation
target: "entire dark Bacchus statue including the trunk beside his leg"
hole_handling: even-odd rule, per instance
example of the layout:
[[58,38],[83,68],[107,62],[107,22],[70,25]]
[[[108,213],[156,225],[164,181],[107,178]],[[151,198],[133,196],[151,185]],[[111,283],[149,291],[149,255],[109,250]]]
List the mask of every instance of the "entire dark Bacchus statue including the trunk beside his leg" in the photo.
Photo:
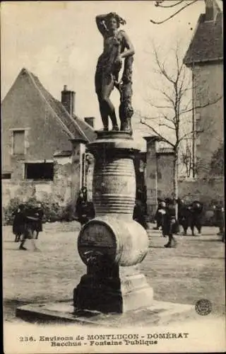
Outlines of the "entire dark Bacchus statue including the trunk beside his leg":
[[[133,108],[131,106],[131,96],[133,92],[131,76],[134,48],[125,31],[119,29],[119,26],[124,25],[126,21],[117,13],[111,12],[96,16],[96,23],[104,38],[104,50],[98,59],[95,72],[95,91],[100,105],[103,130],[109,130],[109,118],[112,121],[112,130],[119,130],[114,105],[109,99],[114,87],[116,87],[120,93],[120,130],[132,133]],[[123,59],[124,71],[121,80],[119,80]]]

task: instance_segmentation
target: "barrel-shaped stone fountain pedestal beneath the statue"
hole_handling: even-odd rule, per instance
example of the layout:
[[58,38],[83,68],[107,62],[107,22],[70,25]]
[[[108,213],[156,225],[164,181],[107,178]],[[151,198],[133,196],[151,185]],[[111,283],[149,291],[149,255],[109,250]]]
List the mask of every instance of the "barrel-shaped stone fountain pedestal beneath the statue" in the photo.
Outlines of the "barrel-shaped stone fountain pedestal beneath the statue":
[[78,235],[78,252],[87,274],[74,289],[74,309],[122,313],[148,306],[153,290],[138,268],[148,252],[148,235],[133,220],[133,158],[138,149],[126,132],[97,132],[88,149],[95,157],[96,216]]

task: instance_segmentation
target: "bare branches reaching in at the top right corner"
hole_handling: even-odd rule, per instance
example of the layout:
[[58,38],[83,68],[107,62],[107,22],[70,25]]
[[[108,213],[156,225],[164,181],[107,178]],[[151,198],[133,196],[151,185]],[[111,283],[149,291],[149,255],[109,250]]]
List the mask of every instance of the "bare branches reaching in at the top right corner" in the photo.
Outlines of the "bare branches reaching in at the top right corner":
[[[154,21],[154,20],[150,20],[151,23],[154,23],[155,25],[160,25],[162,23],[165,23],[169,20],[171,20],[172,18],[174,18],[175,16],[178,15],[178,13],[184,11],[185,8],[188,8],[189,6],[195,4],[197,1],[199,0],[189,0],[189,1],[185,1],[185,0],[177,0],[177,1],[169,1],[169,0],[157,0],[155,1],[155,6],[160,7],[160,8],[174,8],[175,11],[168,17],[166,17],[164,20],[162,21]],[[206,3],[206,0],[203,0]]]

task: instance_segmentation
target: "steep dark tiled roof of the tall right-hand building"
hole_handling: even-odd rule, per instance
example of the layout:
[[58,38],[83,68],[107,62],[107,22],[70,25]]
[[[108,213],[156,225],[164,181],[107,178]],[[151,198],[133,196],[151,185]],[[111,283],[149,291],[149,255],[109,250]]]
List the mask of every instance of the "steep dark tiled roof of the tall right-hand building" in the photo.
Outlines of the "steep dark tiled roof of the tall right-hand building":
[[222,13],[219,12],[215,21],[205,21],[205,14],[198,19],[196,32],[184,57],[184,64],[210,62],[222,59]]

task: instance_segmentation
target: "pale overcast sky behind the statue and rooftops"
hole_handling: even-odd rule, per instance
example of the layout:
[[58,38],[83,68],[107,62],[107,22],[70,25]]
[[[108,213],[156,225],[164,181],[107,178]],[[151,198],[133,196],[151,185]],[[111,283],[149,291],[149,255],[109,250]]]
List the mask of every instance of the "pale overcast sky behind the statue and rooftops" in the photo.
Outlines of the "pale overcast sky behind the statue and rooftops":
[[[203,0],[163,25],[150,23],[150,18],[169,16],[169,10],[156,8],[154,1],[1,2],[1,98],[25,67],[55,98],[60,99],[64,84],[76,91],[78,116],[99,118],[94,74],[102,36],[95,16],[109,11],[126,19],[123,29],[136,49],[133,108],[150,115],[145,98],[152,80],[152,41],[167,55],[176,40],[182,40],[181,52],[185,53],[198,16],[204,11]],[[118,102],[117,93],[113,101]]]

